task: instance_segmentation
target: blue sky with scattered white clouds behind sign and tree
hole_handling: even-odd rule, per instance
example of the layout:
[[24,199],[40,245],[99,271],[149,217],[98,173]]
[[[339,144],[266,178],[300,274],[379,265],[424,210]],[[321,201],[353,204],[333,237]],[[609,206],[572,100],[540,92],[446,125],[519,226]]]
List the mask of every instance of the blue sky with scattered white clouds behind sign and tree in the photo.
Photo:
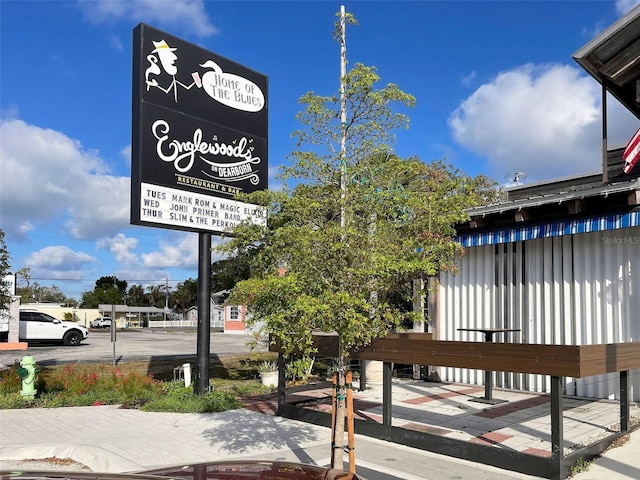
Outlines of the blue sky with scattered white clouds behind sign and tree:
[[[351,1],[351,64],[417,99],[396,152],[527,182],[600,168],[600,87],[571,55],[625,1]],[[294,147],[298,98],[339,86],[334,1],[0,1],[0,228],[14,270],[76,299],[116,274],[197,276],[198,235],[131,226],[132,31],[140,22],[269,77],[269,165]],[[638,121],[610,105],[609,145]],[[277,188],[272,178],[270,186]],[[217,242],[214,236],[214,243]]]

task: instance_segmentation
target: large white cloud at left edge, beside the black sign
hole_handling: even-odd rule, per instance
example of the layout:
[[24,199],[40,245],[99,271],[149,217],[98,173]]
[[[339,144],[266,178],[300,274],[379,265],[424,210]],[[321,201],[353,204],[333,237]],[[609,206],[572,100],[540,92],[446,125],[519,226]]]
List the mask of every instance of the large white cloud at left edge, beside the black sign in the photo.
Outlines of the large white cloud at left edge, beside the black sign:
[[0,214],[8,236],[24,240],[63,215],[74,238],[98,238],[128,224],[130,179],[109,176],[98,152],[22,120],[1,121],[0,137]]

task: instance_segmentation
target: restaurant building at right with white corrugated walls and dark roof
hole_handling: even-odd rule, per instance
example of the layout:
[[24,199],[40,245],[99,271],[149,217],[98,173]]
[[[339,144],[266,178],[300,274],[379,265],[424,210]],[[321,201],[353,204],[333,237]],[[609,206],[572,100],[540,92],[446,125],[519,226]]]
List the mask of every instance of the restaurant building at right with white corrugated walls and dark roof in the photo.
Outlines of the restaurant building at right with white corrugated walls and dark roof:
[[[496,341],[591,345],[640,339],[640,164],[623,173],[608,151],[606,95],[640,119],[640,6],[574,56],[602,85],[602,171],[521,185],[470,211],[458,228],[465,255],[441,273],[430,302],[439,340],[481,341],[460,328],[509,328]],[[441,368],[445,381],[481,384],[483,372]],[[550,391],[542,375],[496,373],[494,384]],[[565,393],[614,398],[617,375],[565,379]],[[630,372],[640,401],[640,372]]]

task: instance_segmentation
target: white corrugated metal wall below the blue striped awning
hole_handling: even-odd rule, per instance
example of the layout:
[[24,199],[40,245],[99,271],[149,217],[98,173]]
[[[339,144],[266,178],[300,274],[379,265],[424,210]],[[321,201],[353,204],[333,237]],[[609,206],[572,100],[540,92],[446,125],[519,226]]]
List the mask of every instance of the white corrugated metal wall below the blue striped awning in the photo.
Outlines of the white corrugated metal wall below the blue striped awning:
[[[640,340],[640,227],[466,249],[440,277],[441,340],[482,341],[458,328],[504,327],[496,341],[591,345]],[[502,338],[501,338],[502,335]],[[481,384],[483,372],[441,369],[443,380]],[[640,401],[640,372],[631,372]],[[549,391],[542,375],[496,373],[495,385]],[[566,394],[615,398],[618,375],[566,379]]]

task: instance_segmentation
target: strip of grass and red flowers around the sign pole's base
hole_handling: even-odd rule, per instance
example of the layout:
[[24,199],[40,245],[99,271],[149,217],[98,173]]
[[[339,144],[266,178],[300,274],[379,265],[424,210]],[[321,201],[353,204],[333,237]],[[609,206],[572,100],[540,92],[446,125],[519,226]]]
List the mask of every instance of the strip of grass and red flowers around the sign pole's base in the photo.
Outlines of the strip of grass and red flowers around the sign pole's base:
[[212,359],[212,391],[203,395],[195,395],[183,381],[173,381],[176,361],[131,362],[115,368],[110,364],[44,366],[39,367],[33,400],[20,394],[22,380],[16,363],[0,372],[0,408],[120,404],[145,411],[221,412],[239,408],[243,397],[271,391],[258,380],[258,367],[273,359],[269,353]]

